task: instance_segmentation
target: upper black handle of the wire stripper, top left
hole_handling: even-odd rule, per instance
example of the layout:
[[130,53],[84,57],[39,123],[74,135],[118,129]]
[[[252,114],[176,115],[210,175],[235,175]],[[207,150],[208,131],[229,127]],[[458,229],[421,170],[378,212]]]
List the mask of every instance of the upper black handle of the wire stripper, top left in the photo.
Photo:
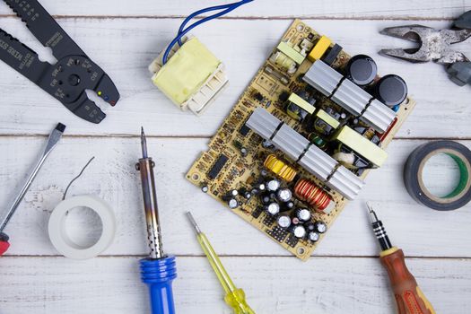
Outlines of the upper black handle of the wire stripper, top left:
[[4,2],[22,19],[22,22],[26,23],[41,44],[52,49],[52,54],[57,59],[70,55],[86,56],[38,1],[4,0]]

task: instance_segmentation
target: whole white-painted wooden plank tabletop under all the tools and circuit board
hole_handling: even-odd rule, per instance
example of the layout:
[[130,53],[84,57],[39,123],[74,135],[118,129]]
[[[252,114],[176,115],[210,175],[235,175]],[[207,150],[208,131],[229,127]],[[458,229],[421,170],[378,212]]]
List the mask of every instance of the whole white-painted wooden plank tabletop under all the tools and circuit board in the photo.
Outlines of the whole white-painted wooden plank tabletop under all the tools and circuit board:
[[[51,154],[7,228],[12,248],[0,258],[0,312],[148,313],[138,273],[146,254],[141,190],[135,161],[144,126],[156,176],[164,249],[178,256],[174,292],[179,313],[231,313],[184,213],[191,210],[235,283],[257,313],[394,313],[388,280],[363,209],[371,200],[392,240],[438,313],[471,310],[471,206],[440,213],[407,195],[402,167],[414,147],[455,139],[471,147],[471,90],[450,83],[440,65],[412,65],[379,57],[379,48],[406,46],[379,35],[384,27],[424,23],[446,28],[471,9],[469,0],[282,1],[257,0],[194,33],[227,65],[230,87],[201,118],[180,112],[150,81],[147,65],[175,35],[182,17],[216,1],[44,0],[43,5],[121,92],[116,108],[95,126],[0,63],[0,204],[9,205],[58,121],[65,138]],[[42,55],[48,53],[9,8],[0,4],[0,27]],[[374,57],[380,74],[396,73],[418,104],[388,148],[383,169],[328,231],[308,262],[290,256],[248,223],[184,179],[196,155],[244,90],[293,18],[335,39],[351,54]],[[471,56],[471,46],[460,50]],[[50,59],[50,57],[45,57]],[[67,183],[96,156],[70,195],[107,200],[118,219],[116,239],[104,255],[87,261],[61,257],[48,240],[48,217]],[[452,168],[437,161],[436,170]],[[436,186],[443,178],[433,177]],[[438,187],[440,188],[440,187]],[[76,212],[76,211],[75,211]],[[71,214],[78,240],[100,232],[91,215]],[[83,231],[86,230],[86,231]]]

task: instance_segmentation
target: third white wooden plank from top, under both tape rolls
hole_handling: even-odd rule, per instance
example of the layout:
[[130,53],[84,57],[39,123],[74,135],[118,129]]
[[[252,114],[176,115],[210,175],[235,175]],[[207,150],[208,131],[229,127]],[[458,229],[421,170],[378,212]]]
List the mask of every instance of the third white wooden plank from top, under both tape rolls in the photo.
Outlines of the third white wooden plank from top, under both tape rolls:
[[[146,125],[144,125],[146,126]],[[243,222],[235,214],[200,192],[184,175],[195,156],[205,148],[205,139],[149,139],[149,153],[155,158],[157,191],[165,247],[178,255],[199,255],[185,213],[192,211],[201,227],[214,239],[222,255],[289,255],[275,242]],[[13,198],[13,187],[25,178],[25,171],[39,152],[43,138],[0,137],[0,204]],[[315,255],[375,256],[364,201],[371,200],[385,222],[391,240],[409,257],[471,257],[467,228],[471,224],[471,204],[442,213],[415,204],[402,183],[402,167],[409,153],[423,141],[394,141],[383,168],[371,171],[361,195],[347,205]],[[468,147],[471,144],[464,141]],[[77,180],[69,196],[98,194],[113,207],[118,220],[116,240],[107,255],[146,254],[144,210],[138,173],[137,138],[65,138],[39,173],[30,192],[7,228],[11,236],[10,255],[56,255],[48,240],[48,217],[61,199],[70,179],[96,156],[83,178]],[[20,157],[21,156],[21,157]],[[437,164],[436,167],[440,167]],[[431,171],[432,172],[432,171]],[[437,185],[443,184],[437,180]],[[27,232],[25,232],[27,231]],[[449,245],[453,243],[453,245]],[[435,248],[435,249],[431,249]]]

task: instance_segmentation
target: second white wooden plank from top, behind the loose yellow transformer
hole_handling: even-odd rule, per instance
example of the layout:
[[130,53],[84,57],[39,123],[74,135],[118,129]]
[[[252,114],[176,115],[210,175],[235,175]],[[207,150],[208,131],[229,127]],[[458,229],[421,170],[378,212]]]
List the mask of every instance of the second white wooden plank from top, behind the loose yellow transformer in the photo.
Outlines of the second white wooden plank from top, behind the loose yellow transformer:
[[[18,19],[4,18],[1,22],[6,31],[21,38],[31,48],[40,47]],[[379,73],[396,73],[406,79],[417,106],[397,136],[468,138],[471,135],[469,86],[458,87],[451,83],[441,65],[414,65],[377,55],[379,48],[407,45],[378,33],[383,27],[404,21],[306,22],[336,39],[349,53],[374,56]],[[179,20],[62,20],[65,30],[118,85],[121,100],[115,108],[108,105],[102,107],[109,117],[99,126],[94,126],[76,118],[57,100],[8,65],[0,64],[0,93],[4,110],[0,117],[0,133],[47,134],[49,126],[60,120],[70,126],[68,134],[74,135],[134,135],[136,127],[143,123],[149,135],[213,135],[290,23],[223,20],[208,23],[195,31],[208,48],[225,62],[230,77],[230,87],[198,118],[190,112],[180,112],[171,104],[153,86],[147,71],[147,65],[174,35]],[[429,24],[445,27],[449,22]],[[345,25],[348,27],[345,28]],[[248,33],[251,35],[246,36]],[[471,51],[469,45],[463,47]]]

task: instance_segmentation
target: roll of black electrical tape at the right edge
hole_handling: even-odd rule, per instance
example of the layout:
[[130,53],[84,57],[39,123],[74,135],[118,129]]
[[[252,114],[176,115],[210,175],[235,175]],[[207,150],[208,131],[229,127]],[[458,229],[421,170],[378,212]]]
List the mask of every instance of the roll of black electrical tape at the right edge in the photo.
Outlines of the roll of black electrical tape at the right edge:
[[[449,155],[458,165],[458,186],[447,196],[434,196],[423,184],[423,166],[439,153]],[[471,151],[453,141],[430,142],[417,147],[407,158],[404,168],[407,192],[418,203],[439,211],[451,211],[467,205],[471,200]]]

